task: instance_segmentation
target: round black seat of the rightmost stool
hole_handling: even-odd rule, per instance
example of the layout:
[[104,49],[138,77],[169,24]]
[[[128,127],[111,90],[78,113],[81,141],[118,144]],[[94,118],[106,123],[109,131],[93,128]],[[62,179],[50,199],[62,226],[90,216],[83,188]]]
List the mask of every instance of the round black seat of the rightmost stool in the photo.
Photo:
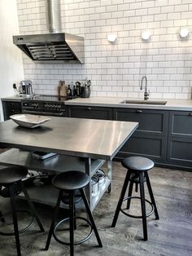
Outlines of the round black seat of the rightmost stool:
[[129,170],[145,171],[154,167],[154,162],[146,157],[127,157],[122,161],[122,166]]

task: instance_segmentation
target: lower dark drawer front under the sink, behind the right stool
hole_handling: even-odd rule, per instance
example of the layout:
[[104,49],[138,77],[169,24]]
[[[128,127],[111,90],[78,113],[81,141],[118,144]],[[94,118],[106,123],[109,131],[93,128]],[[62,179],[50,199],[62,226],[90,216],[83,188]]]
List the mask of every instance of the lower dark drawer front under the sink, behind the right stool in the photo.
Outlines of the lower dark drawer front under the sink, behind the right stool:
[[157,163],[164,163],[166,159],[166,137],[133,135],[120,149],[116,158],[123,159],[129,156],[149,157]]

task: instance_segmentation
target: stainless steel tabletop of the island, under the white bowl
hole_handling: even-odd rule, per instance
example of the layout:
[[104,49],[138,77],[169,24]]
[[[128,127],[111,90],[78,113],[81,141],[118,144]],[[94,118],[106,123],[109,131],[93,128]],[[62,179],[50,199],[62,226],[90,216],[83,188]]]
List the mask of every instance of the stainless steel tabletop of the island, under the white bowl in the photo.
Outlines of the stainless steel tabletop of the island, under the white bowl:
[[51,117],[45,125],[28,129],[8,120],[0,123],[0,144],[111,160],[137,126],[129,121]]

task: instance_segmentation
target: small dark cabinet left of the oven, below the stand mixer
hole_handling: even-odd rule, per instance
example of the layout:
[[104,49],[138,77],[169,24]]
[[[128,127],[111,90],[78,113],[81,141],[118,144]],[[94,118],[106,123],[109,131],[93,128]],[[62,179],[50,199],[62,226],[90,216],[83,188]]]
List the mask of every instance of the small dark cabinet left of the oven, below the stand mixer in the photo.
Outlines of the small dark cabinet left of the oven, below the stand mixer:
[[4,120],[10,119],[11,115],[21,113],[21,103],[15,101],[2,101]]

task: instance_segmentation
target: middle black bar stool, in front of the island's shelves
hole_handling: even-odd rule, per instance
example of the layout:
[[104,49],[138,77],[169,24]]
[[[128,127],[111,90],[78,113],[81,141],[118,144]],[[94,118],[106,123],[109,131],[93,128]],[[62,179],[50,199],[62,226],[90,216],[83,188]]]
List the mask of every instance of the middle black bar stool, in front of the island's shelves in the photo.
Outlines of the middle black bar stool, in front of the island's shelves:
[[[87,197],[85,195],[84,188],[89,183],[89,176],[81,171],[70,170],[67,172],[63,172],[55,176],[52,180],[52,184],[55,188],[59,189],[59,196],[57,203],[55,205],[55,212],[53,214],[52,222],[50,224],[50,232],[46,241],[46,250],[49,249],[50,239],[53,235],[55,240],[58,241],[62,245],[70,245],[70,255],[74,255],[74,245],[79,245],[89,239],[92,235],[92,231],[94,230],[95,236],[98,241],[98,246],[103,247],[102,241],[98,235],[97,227],[94,223],[93,215],[91,214],[91,210],[89,208],[89,203],[87,201]],[[86,212],[89,216],[89,220],[87,218],[76,217],[75,213],[75,201],[74,197],[76,196],[76,191],[80,192],[81,198],[84,201]],[[59,213],[59,205],[61,201],[65,201],[63,198],[63,192],[67,192],[69,196],[69,218],[63,218],[59,223],[56,223],[56,219]],[[74,242],[74,230],[76,230],[76,218],[83,219],[89,226],[91,227],[91,232],[88,236],[86,236],[81,241]],[[59,227],[59,224],[63,223],[69,219],[69,232],[70,232],[70,242],[61,241],[55,234],[56,229]],[[55,224],[56,223],[56,224]]]

